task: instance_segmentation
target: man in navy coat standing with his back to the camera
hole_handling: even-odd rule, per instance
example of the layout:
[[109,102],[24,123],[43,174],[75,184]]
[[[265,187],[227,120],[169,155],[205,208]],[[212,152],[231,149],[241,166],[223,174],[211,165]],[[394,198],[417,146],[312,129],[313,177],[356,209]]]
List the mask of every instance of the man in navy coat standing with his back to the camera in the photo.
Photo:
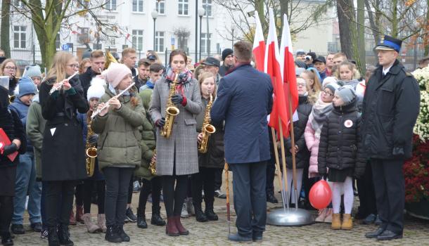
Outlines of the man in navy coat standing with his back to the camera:
[[270,159],[267,115],[273,87],[268,75],[250,65],[252,44],[234,44],[234,67],[221,79],[211,117],[225,120],[225,159],[233,171],[233,202],[238,233],[233,241],[262,240],[267,220],[266,165]]

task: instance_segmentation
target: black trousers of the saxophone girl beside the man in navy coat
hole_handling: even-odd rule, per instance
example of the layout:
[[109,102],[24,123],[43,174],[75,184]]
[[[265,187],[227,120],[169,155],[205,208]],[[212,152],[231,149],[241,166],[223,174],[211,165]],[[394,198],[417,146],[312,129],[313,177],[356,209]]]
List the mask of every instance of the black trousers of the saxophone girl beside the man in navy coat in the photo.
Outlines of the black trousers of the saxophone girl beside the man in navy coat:
[[204,187],[205,209],[213,209],[214,203],[214,171],[215,168],[200,167],[200,172],[192,174],[192,199],[193,206],[201,208],[203,198],[201,191]]

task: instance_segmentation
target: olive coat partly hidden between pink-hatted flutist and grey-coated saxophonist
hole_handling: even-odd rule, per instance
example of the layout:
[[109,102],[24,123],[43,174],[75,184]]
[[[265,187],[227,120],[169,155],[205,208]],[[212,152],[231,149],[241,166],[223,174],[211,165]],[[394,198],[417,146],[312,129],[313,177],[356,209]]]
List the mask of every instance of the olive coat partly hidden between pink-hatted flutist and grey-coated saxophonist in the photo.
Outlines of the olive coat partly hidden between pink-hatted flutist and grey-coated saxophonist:
[[154,175],[149,170],[149,165],[153,157],[153,151],[156,147],[155,126],[149,114],[149,105],[151,103],[153,89],[142,89],[139,93],[143,108],[146,111],[146,121],[141,126],[141,164],[139,169],[134,171],[134,176],[142,177],[143,179],[151,180]]

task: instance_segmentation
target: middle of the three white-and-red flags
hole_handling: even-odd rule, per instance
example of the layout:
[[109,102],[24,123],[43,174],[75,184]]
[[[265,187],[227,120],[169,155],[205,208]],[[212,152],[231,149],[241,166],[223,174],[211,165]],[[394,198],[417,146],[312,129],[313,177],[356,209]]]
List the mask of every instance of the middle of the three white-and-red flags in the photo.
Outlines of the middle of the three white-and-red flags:
[[278,53],[276,25],[274,20],[274,13],[271,8],[269,9],[269,32],[267,38],[267,47],[265,49],[264,61],[264,72],[266,72],[271,77],[271,83],[274,87],[273,110],[271,111],[271,115],[269,116],[268,125],[276,129],[277,132],[280,132],[279,122],[281,122],[283,129],[283,137],[288,137],[289,119],[286,108],[286,94],[283,89],[280,55]]

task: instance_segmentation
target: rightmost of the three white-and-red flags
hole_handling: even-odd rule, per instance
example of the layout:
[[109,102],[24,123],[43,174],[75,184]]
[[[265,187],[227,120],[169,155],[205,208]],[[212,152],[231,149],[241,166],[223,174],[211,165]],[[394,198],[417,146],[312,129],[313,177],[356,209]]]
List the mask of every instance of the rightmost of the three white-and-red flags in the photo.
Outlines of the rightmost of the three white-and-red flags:
[[[298,89],[296,84],[295,62],[293,60],[292,40],[290,39],[290,28],[288,16],[283,15],[283,33],[280,43],[280,67],[283,77],[283,89],[285,91],[286,105],[288,107],[288,119],[297,119],[296,109],[298,107]],[[292,104],[293,115],[290,115],[289,105]]]

